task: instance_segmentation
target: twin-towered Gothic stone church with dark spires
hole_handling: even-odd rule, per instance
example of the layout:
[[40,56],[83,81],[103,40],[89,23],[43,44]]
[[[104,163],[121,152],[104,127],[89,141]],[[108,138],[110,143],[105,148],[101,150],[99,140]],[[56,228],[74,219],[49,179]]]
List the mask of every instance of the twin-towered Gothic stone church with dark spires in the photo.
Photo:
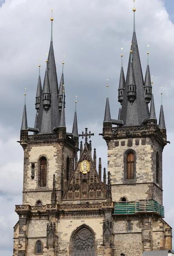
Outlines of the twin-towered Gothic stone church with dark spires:
[[165,119],[161,105],[157,124],[149,65],[144,81],[135,24],[127,77],[121,67],[118,91],[119,118],[111,119],[107,96],[101,134],[108,148],[106,179],[88,141],[94,134],[87,128],[78,134],[76,103],[73,130],[67,132],[64,72],[58,87],[51,29],[34,128],[27,125],[26,103],[23,109],[23,204],[15,207],[13,256],[142,256],[144,250],[171,249],[162,206]]

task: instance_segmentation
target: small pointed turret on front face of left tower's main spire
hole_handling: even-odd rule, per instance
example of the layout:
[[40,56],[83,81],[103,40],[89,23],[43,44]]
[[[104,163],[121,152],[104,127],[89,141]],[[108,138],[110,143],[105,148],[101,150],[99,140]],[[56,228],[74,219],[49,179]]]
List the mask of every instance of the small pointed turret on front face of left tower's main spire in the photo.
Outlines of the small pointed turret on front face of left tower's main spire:
[[49,87],[47,65],[46,65],[46,72],[45,72],[42,94],[43,94],[42,105],[44,107],[44,110],[47,112],[51,106],[51,93],[50,93],[50,87]]

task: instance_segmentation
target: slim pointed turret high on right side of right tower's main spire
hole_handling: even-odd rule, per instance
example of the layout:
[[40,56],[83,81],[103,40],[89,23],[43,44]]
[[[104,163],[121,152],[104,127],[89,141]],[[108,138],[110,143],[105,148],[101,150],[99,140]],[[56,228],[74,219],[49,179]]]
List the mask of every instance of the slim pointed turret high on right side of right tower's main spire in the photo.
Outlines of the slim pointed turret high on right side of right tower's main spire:
[[[149,52],[148,52],[148,55],[149,55]],[[151,101],[151,97],[152,97],[151,74],[150,74],[149,64],[147,65],[146,73],[145,73],[144,90],[145,90],[145,102],[148,107],[148,104]]]

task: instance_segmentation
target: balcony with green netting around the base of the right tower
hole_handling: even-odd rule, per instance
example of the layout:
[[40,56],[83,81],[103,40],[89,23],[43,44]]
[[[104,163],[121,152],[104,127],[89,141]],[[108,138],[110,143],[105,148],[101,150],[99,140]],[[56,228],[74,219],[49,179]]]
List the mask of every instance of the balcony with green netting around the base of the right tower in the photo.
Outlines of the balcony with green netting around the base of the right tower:
[[164,207],[154,200],[115,202],[114,215],[129,215],[151,212],[164,218]]

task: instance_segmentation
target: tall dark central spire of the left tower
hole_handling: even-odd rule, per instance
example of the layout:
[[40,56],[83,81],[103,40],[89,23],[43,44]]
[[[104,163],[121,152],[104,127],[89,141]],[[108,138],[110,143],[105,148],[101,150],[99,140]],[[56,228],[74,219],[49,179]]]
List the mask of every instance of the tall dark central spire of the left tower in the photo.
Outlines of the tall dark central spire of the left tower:
[[[57,80],[57,73],[56,73],[56,65],[55,65],[55,57],[54,57],[54,50],[52,44],[52,21],[53,17],[51,17],[51,42],[49,47],[49,55],[47,60],[47,70],[48,70],[48,81],[49,81],[49,89],[51,94],[51,105],[49,111],[45,114],[43,108],[39,108],[38,112],[38,122],[37,128],[39,129],[40,134],[52,133],[53,128],[58,127],[60,124],[60,114],[58,111],[58,80]],[[42,93],[41,102],[43,102],[44,96]],[[45,119],[46,123],[45,124]],[[47,128],[46,128],[47,126]],[[49,128],[48,128],[49,127]]]

